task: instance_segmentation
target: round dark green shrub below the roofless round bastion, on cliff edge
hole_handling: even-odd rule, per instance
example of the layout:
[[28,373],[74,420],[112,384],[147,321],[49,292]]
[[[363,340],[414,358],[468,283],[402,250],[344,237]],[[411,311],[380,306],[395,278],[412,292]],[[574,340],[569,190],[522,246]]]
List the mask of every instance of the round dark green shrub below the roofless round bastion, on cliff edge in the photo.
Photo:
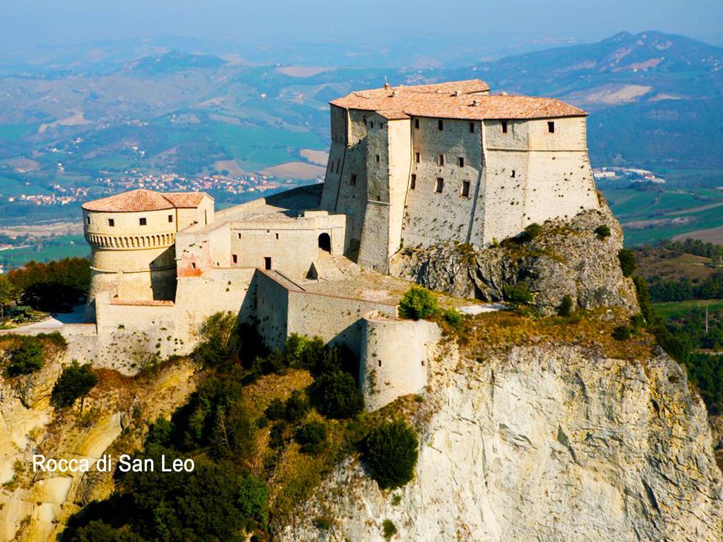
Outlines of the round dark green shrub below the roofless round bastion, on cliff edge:
[[369,431],[364,460],[382,489],[403,486],[414,476],[418,455],[416,435],[403,421],[390,421]]

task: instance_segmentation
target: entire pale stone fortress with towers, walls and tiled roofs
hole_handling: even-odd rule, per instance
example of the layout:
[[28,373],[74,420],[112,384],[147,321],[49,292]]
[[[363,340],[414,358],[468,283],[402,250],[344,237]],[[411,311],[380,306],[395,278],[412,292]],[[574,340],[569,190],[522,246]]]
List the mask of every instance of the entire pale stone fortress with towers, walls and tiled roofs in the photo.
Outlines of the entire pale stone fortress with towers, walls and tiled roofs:
[[133,372],[189,353],[207,317],[233,311],[270,348],[291,333],[348,345],[373,410],[422,390],[440,337],[397,318],[396,251],[487,246],[599,208],[586,113],[560,100],[479,80],[385,85],[333,100],[331,139],[323,185],[218,212],[202,193],[85,203],[90,324],[72,355]]

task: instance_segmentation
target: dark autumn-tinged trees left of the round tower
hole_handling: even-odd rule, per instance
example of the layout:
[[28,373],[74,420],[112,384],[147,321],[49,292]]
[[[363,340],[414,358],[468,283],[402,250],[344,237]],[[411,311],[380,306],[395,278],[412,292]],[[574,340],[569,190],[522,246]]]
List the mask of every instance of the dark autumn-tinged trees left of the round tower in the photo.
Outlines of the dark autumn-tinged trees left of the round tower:
[[46,264],[27,262],[0,275],[0,304],[30,306],[39,311],[69,311],[90,288],[90,260],[65,258]]

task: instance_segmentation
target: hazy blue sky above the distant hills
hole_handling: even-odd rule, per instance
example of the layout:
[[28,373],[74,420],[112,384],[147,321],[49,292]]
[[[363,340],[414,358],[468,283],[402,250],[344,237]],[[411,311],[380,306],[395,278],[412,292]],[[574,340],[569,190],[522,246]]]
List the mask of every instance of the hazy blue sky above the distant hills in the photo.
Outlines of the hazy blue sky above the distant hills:
[[594,40],[620,30],[723,34],[722,0],[0,0],[0,49],[183,35],[357,43],[458,34]]

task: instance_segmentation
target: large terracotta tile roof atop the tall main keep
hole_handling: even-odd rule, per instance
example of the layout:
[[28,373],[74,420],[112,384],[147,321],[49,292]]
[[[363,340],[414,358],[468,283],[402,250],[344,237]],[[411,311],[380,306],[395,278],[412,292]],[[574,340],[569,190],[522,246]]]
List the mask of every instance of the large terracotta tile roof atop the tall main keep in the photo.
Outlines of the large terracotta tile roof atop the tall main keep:
[[[427,116],[442,119],[553,119],[586,116],[586,112],[556,98],[489,95],[487,83],[472,79],[419,85],[360,90],[333,100],[334,106],[376,111],[390,117]],[[399,116],[399,115],[405,116]]]

